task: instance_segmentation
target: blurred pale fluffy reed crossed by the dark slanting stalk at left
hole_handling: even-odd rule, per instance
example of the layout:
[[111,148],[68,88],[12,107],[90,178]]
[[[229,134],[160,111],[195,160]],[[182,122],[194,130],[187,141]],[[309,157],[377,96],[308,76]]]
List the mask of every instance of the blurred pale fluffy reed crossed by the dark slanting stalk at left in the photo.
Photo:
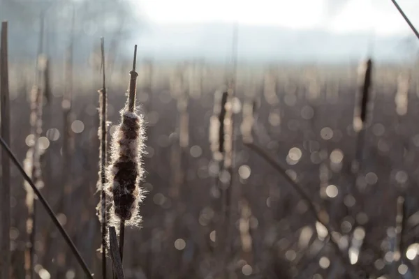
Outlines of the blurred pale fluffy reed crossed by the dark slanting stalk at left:
[[[31,124],[32,144],[27,151],[24,159],[24,170],[30,175],[38,189],[43,188],[43,179],[41,176],[41,149],[39,146],[39,138],[42,133],[42,109],[43,109],[43,92],[38,86],[34,86],[30,93],[31,114],[29,123]],[[24,189],[27,192],[26,205],[28,209],[27,218],[27,234],[29,240],[25,250],[25,272],[27,278],[34,278],[34,246],[36,235],[36,197],[29,183],[24,182]]]

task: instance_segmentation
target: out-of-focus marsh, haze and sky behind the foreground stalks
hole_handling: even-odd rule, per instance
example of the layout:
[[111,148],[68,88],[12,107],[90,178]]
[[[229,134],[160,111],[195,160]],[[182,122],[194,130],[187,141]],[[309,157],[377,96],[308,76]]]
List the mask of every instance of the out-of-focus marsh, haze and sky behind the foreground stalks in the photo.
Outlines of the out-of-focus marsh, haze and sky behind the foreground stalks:
[[[419,26],[419,2],[399,5]],[[147,121],[147,195],[142,227],[126,231],[126,278],[419,278],[419,42],[390,0],[1,0],[0,20],[8,21],[11,148],[23,162],[38,146],[41,192],[95,278],[101,37],[108,135],[126,101],[134,44]],[[358,68],[367,58],[370,86]],[[216,92],[228,80],[231,172],[209,141]],[[34,85],[44,96],[38,136]],[[243,144],[246,107],[253,144],[309,199]],[[25,278],[27,191],[11,173],[12,278]],[[230,216],[217,239],[223,185]],[[83,278],[38,208],[35,278]]]

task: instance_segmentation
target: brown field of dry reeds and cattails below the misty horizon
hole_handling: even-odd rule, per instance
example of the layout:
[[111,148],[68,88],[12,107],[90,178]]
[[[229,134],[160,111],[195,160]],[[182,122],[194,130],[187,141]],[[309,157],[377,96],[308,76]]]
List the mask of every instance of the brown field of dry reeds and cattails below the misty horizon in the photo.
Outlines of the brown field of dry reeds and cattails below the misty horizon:
[[415,67],[34,67],[5,40],[2,279],[419,278]]

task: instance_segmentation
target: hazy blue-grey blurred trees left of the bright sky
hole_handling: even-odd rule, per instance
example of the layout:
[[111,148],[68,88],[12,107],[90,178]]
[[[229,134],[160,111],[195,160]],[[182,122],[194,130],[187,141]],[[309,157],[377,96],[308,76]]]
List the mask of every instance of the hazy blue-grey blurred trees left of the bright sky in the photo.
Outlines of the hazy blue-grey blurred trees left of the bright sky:
[[75,61],[86,61],[101,36],[116,54],[140,24],[135,3],[124,0],[0,0],[0,20],[9,22],[10,59],[22,60],[36,56],[41,36],[43,52],[53,59],[74,41]]

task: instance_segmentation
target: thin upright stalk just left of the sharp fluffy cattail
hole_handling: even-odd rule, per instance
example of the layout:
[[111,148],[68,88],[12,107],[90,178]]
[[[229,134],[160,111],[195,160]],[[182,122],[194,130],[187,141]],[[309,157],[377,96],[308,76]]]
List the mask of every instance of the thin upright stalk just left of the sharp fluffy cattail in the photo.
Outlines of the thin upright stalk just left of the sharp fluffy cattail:
[[105,84],[105,46],[104,39],[101,38],[101,56],[102,56],[102,89],[98,91],[99,93],[99,129],[98,137],[100,141],[99,147],[99,181],[98,181],[98,191],[101,193],[101,201],[98,204],[98,218],[101,222],[102,230],[102,278],[106,279],[106,231],[108,227],[108,220],[106,217],[106,165],[107,165],[107,112],[108,100],[106,96],[106,84]]

